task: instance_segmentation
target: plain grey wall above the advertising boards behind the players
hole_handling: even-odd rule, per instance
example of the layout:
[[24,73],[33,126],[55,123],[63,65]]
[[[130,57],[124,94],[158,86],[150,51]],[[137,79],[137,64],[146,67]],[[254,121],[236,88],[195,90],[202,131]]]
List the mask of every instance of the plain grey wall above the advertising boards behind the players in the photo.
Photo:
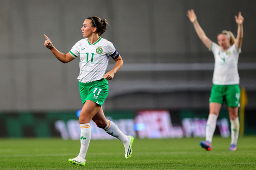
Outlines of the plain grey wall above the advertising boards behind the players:
[[[0,0],[0,4],[0,111],[81,108],[79,59],[62,64],[43,45],[43,34],[66,53],[83,38],[83,20],[94,15],[109,21],[102,37],[113,42],[125,62],[109,81],[105,109],[208,107],[214,59],[186,16],[191,8],[213,41],[223,29],[236,34],[234,16],[242,11],[240,82],[249,91],[249,107],[256,108],[254,0]],[[192,67],[193,63],[199,65]],[[110,61],[108,69],[113,64]]]

